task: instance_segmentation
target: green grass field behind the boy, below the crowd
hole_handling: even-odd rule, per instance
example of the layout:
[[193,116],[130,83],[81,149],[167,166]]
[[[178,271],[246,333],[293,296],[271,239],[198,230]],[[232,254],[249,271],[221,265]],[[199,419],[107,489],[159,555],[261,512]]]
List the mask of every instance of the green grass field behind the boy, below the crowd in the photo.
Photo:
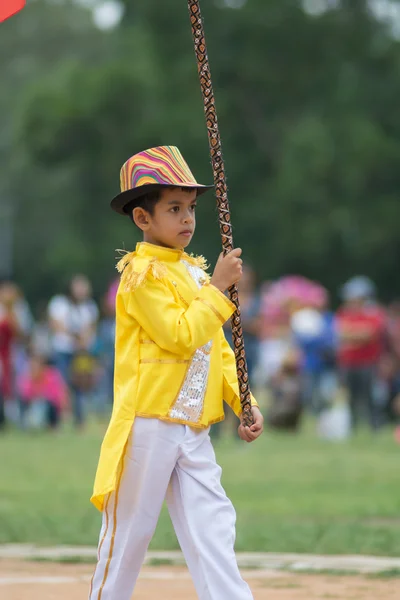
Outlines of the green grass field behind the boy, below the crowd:
[[[266,432],[216,446],[237,513],[237,549],[400,555],[400,447],[390,432],[323,442]],[[102,431],[0,436],[0,543],[96,544],[90,505]],[[153,549],[176,549],[164,511]]]

